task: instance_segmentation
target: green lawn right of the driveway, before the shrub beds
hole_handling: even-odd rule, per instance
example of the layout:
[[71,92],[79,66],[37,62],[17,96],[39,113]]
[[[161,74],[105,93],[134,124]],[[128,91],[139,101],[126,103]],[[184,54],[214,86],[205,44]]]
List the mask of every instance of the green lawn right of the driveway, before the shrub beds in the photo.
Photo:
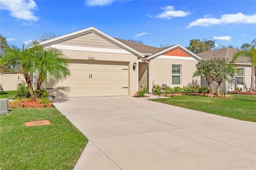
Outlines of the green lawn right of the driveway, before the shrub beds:
[[224,117],[256,122],[256,95],[232,95],[232,99],[181,95],[150,100]]

